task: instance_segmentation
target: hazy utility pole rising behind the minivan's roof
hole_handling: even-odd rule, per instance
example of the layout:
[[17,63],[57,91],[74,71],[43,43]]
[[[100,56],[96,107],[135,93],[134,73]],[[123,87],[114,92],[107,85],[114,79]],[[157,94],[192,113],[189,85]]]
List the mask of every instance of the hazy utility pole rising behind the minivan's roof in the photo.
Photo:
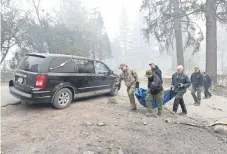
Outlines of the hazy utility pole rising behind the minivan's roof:
[[[91,9],[91,11],[92,12],[90,14],[93,16],[92,17],[92,20],[93,20],[93,31],[92,32],[95,34],[94,36],[97,36],[96,20],[97,20],[97,15],[100,13],[99,7],[93,8],[93,9]],[[92,58],[93,58],[93,60],[96,59],[96,40],[95,39],[92,39]]]

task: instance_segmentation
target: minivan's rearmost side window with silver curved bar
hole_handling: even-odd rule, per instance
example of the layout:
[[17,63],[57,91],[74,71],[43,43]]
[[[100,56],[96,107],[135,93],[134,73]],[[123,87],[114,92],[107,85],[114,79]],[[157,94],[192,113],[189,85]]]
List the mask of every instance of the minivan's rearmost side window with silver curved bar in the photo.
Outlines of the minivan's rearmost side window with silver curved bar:
[[75,73],[75,64],[72,58],[57,57],[49,65],[49,72],[54,73]]

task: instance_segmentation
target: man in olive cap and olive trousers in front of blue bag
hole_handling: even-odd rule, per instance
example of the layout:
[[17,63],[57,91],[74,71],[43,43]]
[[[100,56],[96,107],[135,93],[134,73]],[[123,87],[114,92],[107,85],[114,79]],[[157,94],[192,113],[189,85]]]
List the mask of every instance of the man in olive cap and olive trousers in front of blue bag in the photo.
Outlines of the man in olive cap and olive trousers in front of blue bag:
[[148,79],[148,92],[146,96],[146,105],[148,108],[148,112],[146,113],[147,116],[151,115],[153,112],[151,101],[155,100],[158,104],[158,115],[162,115],[162,104],[163,104],[163,97],[164,97],[164,89],[162,86],[162,81],[158,75],[152,73],[151,70],[146,71],[145,76]]

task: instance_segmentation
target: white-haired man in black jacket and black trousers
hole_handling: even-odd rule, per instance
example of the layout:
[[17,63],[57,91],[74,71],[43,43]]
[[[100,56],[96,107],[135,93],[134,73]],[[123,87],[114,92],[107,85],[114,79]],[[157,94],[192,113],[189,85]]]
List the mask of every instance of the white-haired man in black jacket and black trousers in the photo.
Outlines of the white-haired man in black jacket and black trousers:
[[184,103],[184,94],[187,91],[187,88],[190,86],[190,81],[188,76],[183,73],[184,67],[182,65],[177,66],[177,72],[172,75],[172,86],[171,89],[176,93],[174,103],[173,103],[173,112],[177,113],[178,106],[180,104],[182,112],[180,115],[187,114],[187,109]]

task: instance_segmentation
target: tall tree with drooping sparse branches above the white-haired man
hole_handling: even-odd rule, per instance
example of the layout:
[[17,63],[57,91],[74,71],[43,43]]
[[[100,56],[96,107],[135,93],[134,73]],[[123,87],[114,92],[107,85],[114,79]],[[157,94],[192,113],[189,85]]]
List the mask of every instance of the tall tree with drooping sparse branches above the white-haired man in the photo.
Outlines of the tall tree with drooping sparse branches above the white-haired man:
[[[179,0],[144,0],[141,6],[146,22],[144,36],[149,40],[150,35],[154,34],[161,51],[169,51],[175,39],[178,65],[184,65],[184,49],[193,47],[195,53],[204,39],[201,29],[191,17],[201,10],[201,6],[195,4],[187,0],[181,3]],[[185,43],[182,40],[183,33],[186,36]]]

